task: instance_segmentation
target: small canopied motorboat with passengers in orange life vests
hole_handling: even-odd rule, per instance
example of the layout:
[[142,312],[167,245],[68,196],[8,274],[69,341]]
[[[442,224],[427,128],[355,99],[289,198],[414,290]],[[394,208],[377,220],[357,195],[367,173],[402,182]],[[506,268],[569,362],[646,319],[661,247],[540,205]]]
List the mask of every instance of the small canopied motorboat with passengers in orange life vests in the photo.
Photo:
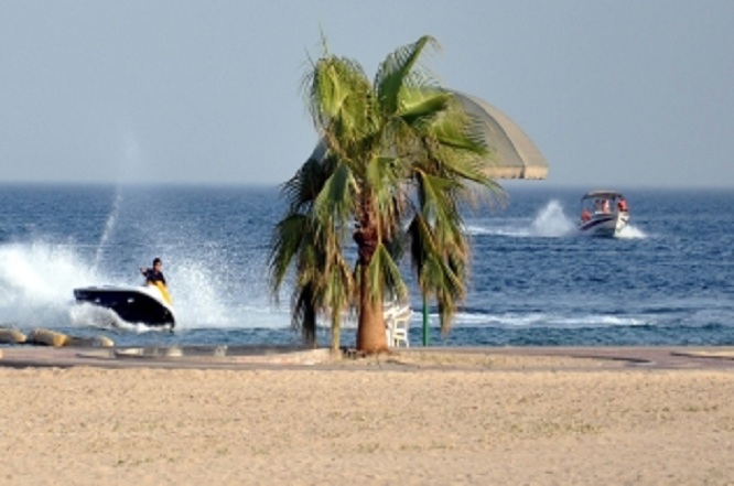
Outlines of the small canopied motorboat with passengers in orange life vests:
[[591,191],[581,198],[579,230],[582,234],[614,238],[628,220],[627,201],[616,191]]

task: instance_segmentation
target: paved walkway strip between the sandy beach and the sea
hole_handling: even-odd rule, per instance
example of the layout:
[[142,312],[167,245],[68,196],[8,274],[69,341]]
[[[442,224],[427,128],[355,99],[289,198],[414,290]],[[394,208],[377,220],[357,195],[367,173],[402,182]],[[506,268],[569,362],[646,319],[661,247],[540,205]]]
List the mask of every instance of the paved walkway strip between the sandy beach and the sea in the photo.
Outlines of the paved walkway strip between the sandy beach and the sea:
[[[104,368],[169,368],[169,369],[251,369],[251,368],[309,368],[361,369],[379,364],[379,369],[404,368],[400,358],[435,354],[456,356],[484,355],[487,357],[522,356],[591,358],[609,360],[626,368],[637,369],[734,369],[734,347],[415,347],[395,354],[364,359],[332,359],[328,349],[292,347],[150,347],[150,348],[79,348],[12,346],[0,348],[0,366],[6,367],[73,367]],[[427,355],[428,354],[428,355]],[[413,361],[414,363],[414,361]],[[580,369],[585,369],[580,360]],[[546,367],[553,368],[551,365]],[[617,368],[619,367],[617,366]],[[431,366],[441,368],[440,365]],[[527,368],[523,368],[527,369]],[[587,369],[598,369],[590,366]]]

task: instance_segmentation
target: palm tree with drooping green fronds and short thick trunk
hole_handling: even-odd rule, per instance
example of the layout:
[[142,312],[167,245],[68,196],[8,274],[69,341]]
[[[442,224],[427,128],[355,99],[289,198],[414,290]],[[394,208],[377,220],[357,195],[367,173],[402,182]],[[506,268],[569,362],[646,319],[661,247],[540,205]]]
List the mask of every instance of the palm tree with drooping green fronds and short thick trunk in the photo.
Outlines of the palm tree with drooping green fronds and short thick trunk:
[[273,234],[270,269],[277,294],[294,263],[293,320],[306,335],[326,312],[338,338],[338,316],[353,306],[357,349],[387,349],[382,303],[408,293],[401,248],[423,295],[438,300],[443,330],[465,298],[469,246],[460,209],[477,190],[501,188],[483,172],[487,149],[473,120],[419,66],[429,47],[436,41],[422,36],[396,50],[374,83],[355,61],[324,50],[304,78],[324,150],[284,185],[289,208]]

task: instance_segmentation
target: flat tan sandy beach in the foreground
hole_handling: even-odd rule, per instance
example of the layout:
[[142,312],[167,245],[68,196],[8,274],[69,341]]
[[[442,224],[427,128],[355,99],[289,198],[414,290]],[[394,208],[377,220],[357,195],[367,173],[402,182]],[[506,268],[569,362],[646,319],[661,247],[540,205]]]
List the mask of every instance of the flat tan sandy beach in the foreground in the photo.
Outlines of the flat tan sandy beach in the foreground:
[[734,484],[733,397],[728,364],[522,350],[3,366],[0,483]]

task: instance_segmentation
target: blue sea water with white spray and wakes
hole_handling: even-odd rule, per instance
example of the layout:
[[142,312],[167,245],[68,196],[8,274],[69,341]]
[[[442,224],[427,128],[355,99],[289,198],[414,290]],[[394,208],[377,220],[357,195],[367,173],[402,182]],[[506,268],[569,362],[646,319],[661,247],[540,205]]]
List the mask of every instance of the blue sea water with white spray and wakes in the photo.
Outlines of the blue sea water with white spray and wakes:
[[[413,346],[424,312],[433,346],[734,344],[733,191],[625,191],[630,226],[605,239],[576,233],[584,188],[507,190],[505,206],[465,213],[471,279],[447,334],[408,278]],[[276,187],[0,185],[0,325],[130,346],[298,344],[290,289],[276,299],[268,280],[283,207]],[[141,283],[154,257],[174,333],[99,328],[74,302],[76,287]]]

